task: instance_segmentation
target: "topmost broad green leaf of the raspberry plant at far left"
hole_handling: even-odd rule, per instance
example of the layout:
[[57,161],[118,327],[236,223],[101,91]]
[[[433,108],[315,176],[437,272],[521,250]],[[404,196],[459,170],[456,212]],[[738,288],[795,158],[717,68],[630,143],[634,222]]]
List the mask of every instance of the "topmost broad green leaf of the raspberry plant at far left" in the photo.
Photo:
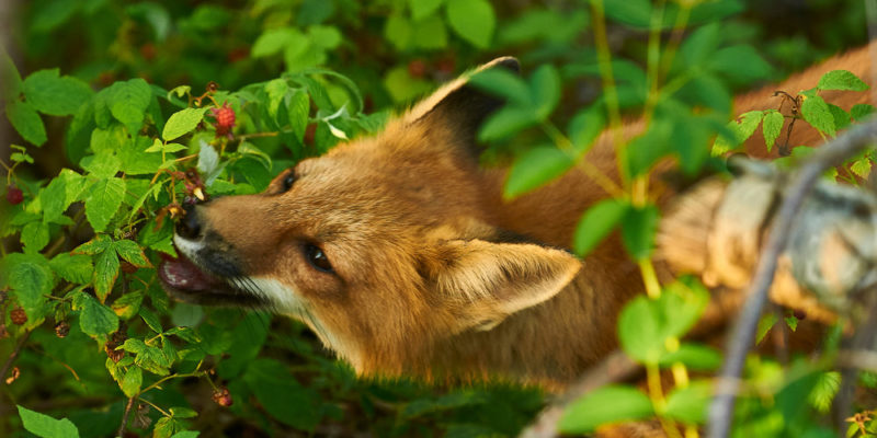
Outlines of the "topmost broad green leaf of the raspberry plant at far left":
[[35,110],[53,116],[75,114],[94,92],[79,79],[59,77],[58,69],[39,70],[24,80],[24,96]]

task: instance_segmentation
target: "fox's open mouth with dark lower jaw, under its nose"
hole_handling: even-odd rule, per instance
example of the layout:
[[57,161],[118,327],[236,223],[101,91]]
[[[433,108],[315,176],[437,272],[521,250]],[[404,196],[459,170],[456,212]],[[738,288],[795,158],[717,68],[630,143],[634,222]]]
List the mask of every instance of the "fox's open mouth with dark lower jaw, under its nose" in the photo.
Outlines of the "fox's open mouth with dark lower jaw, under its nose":
[[179,247],[176,254],[176,258],[162,254],[158,266],[158,277],[171,297],[193,304],[262,307],[259,296],[235,286],[246,285],[246,277],[224,277],[198,267]]

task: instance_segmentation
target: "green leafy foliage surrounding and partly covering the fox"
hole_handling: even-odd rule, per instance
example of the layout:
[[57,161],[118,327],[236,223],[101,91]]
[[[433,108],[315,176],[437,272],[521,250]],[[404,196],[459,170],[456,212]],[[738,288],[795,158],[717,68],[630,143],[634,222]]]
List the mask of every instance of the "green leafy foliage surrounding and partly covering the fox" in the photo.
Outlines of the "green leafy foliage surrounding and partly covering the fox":
[[[171,301],[155,270],[162,253],[175,254],[172,216],[186,198],[257,193],[282,169],[377,131],[390,105],[418,99],[489,59],[488,53],[515,54],[526,72],[493,69],[471,79],[508,101],[478,134],[491,143],[489,157],[515,155],[508,198],[570,171],[589,172],[594,142],[616,141],[601,132],[620,118],[617,108],[647,116],[641,132],[615,145],[617,186],[589,182],[607,197],[576,229],[572,247],[582,257],[618,230],[630,256],[651,263],[660,211],[642,182],[662,161],[696,175],[716,166],[711,154],[739,148],[760,124],[770,151],[785,143],[787,120],[833,136],[874,113],[872,105],[841,108],[824,96],[827,90],[866,89],[839,70],[800,93],[797,115],[763,108],[726,125],[732,91],[836,51],[836,42],[768,35],[773,23],[734,16],[744,8],[736,0],[607,0],[608,25],[626,36],[622,55],[607,62],[588,39],[597,15],[574,2],[25,3],[11,30],[23,44],[13,57],[0,48],[5,119],[14,141],[26,145],[12,145],[4,158],[9,182],[22,188],[24,201],[0,211],[0,332],[10,335],[0,336],[0,358],[29,337],[15,361],[21,377],[4,385],[2,396],[66,418],[20,405],[18,417],[0,418],[3,436],[20,436],[22,428],[41,437],[109,436],[128,399],[127,431],[140,436],[242,434],[238,428],[319,435],[327,425],[374,436],[516,435],[542,407],[538,391],[357,380],[303,325]],[[856,8],[835,9],[862,16]],[[694,27],[676,41],[673,28],[686,24]],[[840,35],[842,28],[824,33]],[[654,59],[652,30],[662,37]],[[16,68],[13,59],[24,62]],[[604,83],[606,66],[614,89]],[[220,107],[236,115],[227,132],[212,112]],[[856,158],[848,176],[842,170],[839,178],[866,178],[873,160],[873,153]],[[718,350],[683,341],[706,299],[704,288],[687,279],[633,299],[618,321],[623,349],[649,373],[716,370]],[[19,308],[27,316],[21,325],[11,320]],[[784,319],[794,330],[798,320]],[[765,321],[760,338],[778,318]],[[60,338],[65,325],[69,334]],[[752,393],[741,399],[734,434],[823,434],[821,413],[838,391],[838,374],[800,358],[784,367],[753,357],[745,376]],[[210,393],[216,399],[224,390],[231,406],[209,407]],[[656,415],[699,425],[710,391],[699,380],[660,394],[608,387],[573,403],[560,426],[589,433]],[[226,408],[240,418],[235,429],[225,429],[224,418],[231,417],[220,413]]]

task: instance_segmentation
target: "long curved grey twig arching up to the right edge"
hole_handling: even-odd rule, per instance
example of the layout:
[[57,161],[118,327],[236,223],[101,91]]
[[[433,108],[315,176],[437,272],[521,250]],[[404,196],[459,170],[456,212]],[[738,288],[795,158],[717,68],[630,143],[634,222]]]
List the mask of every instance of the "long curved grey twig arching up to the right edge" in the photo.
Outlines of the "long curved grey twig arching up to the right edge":
[[719,374],[716,397],[709,406],[708,438],[726,438],[730,433],[733,405],[745,356],[752,346],[762,309],[767,302],[767,291],[773,283],[777,258],[786,247],[793,220],[800,210],[806,195],[829,168],[858,153],[875,138],[877,138],[877,118],[872,117],[817,150],[788,186],[774,220],[767,245],[759,258],[747,302],[737,319],[726,348],[726,359]]

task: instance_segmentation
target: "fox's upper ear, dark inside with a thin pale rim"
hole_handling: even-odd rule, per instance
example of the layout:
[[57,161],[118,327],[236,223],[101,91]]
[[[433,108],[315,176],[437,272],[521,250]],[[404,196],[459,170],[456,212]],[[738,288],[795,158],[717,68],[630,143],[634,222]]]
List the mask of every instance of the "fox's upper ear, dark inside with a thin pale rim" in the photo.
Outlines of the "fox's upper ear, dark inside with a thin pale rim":
[[423,124],[429,128],[447,127],[455,135],[474,142],[481,123],[499,108],[503,101],[470,85],[469,78],[493,68],[505,69],[515,74],[521,70],[515,58],[506,56],[493,59],[436,90],[414,105],[403,116],[403,120],[407,124]]

